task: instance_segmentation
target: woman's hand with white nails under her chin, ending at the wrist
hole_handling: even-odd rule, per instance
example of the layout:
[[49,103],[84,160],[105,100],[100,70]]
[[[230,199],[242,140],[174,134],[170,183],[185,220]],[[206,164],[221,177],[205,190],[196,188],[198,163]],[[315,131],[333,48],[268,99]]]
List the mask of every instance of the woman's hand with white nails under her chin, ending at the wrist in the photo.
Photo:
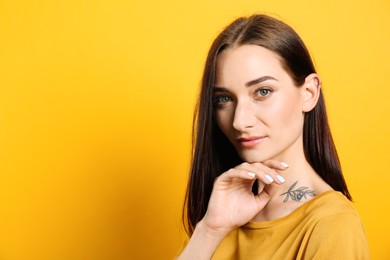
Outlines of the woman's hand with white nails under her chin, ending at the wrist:
[[[216,178],[207,212],[202,219],[210,230],[226,235],[249,222],[270,200],[266,185],[284,182],[276,170],[288,166],[274,160],[264,163],[242,163]],[[259,181],[259,193],[252,186]]]

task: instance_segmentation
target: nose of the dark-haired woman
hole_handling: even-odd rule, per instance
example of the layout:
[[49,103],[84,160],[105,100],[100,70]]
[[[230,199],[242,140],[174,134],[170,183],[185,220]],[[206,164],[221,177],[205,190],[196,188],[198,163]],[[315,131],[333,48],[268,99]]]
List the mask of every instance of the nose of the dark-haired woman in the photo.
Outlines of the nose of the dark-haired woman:
[[250,101],[238,102],[234,111],[233,127],[238,131],[244,131],[256,125],[255,110]]

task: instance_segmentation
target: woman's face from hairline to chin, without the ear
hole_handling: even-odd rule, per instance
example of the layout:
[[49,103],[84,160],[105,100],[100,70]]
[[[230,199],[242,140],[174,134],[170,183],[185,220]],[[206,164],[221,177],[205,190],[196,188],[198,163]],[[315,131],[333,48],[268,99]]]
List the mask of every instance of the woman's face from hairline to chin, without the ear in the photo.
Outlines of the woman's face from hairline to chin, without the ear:
[[289,161],[303,153],[304,89],[263,47],[224,50],[214,86],[217,124],[244,161]]

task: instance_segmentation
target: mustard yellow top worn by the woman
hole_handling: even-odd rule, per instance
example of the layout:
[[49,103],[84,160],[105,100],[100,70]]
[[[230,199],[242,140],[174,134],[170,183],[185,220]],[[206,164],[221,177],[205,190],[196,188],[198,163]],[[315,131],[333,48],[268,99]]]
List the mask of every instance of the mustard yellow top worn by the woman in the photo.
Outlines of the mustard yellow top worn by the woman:
[[232,231],[212,259],[369,259],[369,249],[356,209],[332,190],[288,216]]

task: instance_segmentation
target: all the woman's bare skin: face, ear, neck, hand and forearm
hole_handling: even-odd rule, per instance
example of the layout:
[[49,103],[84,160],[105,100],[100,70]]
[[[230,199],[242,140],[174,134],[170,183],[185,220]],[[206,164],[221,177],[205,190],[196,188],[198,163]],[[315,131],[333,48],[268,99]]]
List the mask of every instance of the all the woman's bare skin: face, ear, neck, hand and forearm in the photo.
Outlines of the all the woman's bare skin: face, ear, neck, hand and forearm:
[[[330,190],[303,152],[304,113],[319,97],[317,74],[295,86],[277,54],[256,45],[224,50],[217,59],[216,120],[245,163],[215,181],[207,212],[178,259],[210,259],[221,240],[249,221],[284,217],[313,196],[285,200],[289,188]],[[289,166],[281,162],[287,162]],[[259,194],[251,187],[258,180]]]

